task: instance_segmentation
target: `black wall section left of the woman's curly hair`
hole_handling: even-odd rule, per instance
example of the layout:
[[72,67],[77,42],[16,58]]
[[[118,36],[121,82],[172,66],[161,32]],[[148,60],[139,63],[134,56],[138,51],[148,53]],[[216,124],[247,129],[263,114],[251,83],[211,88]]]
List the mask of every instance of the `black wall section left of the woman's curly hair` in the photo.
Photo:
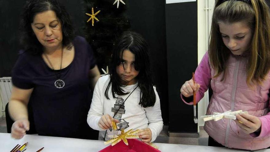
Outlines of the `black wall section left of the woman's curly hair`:
[[0,0],[0,76],[10,76],[19,50],[19,14],[25,1]]

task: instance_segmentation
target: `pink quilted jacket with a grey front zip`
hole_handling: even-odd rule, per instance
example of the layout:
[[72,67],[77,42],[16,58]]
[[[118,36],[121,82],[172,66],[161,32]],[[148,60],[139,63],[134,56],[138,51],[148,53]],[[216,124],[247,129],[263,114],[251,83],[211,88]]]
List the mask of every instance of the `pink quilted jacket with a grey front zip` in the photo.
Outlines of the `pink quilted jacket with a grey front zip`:
[[[248,111],[250,115],[259,117],[262,124],[259,134],[245,134],[230,119],[207,121],[204,125],[205,131],[214,140],[226,147],[258,150],[270,146],[270,72],[262,86],[256,85],[249,88],[246,83],[246,61],[245,55],[231,54],[227,63],[225,80],[221,81],[222,75],[213,78],[215,71],[210,65],[207,52],[195,71],[195,81],[201,85],[199,92],[196,94],[196,100],[199,102],[203,98],[204,92],[211,84],[213,95],[207,107],[206,115],[211,115],[213,112],[243,110]],[[192,102],[187,103],[183,95],[181,97],[186,104],[193,104]]]

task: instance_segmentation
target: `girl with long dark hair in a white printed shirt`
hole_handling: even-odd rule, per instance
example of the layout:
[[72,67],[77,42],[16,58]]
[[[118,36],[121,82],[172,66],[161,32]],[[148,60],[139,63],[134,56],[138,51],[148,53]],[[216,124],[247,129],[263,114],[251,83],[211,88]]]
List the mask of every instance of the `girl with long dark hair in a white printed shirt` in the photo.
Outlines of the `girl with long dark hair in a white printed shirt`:
[[[152,82],[149,49],[141,35],[125,32],[112,53],[109,74],[95,87],[87,122],[108,140],[112,118],[117,130],[140,129],[143,142],[153,142],[163,127],[160,99]],[[107,130],[109,129],[109,130]]]

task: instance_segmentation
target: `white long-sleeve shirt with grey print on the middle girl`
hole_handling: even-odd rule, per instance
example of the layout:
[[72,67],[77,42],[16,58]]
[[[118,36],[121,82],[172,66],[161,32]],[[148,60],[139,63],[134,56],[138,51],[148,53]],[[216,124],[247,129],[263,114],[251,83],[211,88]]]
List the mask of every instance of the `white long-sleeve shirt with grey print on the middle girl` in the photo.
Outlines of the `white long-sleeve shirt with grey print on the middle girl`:
[[[95,130],[99,131],[99,140],[103,140],[105,131],[104,129],[100,128],[98,126],[98,121],[101,119],[101,117],[105,114],[109,114],[111,117],[114,116],[114,112],[112,112],[112,107],[114,107],[114,104],[116,103],[117,98],[122,98],[125,100],[129,94],[127,95],[116,95],[116,98],[113,98],[112,92],[111,92],[111,85],[108,91],[108,95],[110,99],[107,99],[105,96],[105,90],[110,81],[110,76],[102,76],[98,79],[98,82],[96,83],[92,103],[90,110],[88,112],[87,116],[87,123],[89,126]],[[125,86],[122,89],[125,92],[132,92],[136,88],[137,84]],[[125,129],[125,131],[128,131],[129,129],[143,129],[143,128],[149,128],[152,131],[152,139],[151,142],[156,140],[156,137],[160,134],[162,128],[163,128],[163,121],[161,117],[161,110],[160,110],[160,99],[158,96],[158,93],[156,92],[156,88],[154,87],[154,91],[156,94],[156,102],[153,107],[142,107],[140,102],[140,91],[141,89],[139,87],[134,90],[134,92],[128,97],[128,99],[125,101],[125,113],[122,114],[121,121],[125,120],[128,122],[129,127]],[[106,139],[107,135],[111,134],[119,134],[120,131],[110,131],[107,130],[106,133]]]

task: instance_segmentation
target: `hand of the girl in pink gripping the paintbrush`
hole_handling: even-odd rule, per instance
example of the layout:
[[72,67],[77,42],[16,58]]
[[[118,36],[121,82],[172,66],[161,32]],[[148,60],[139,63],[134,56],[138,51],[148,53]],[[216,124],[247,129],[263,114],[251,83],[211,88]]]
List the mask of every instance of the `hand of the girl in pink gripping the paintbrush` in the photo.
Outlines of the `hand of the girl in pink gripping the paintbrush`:
[[190,97],[191,95],[193,95],[193,91],[198,92],[200,88],[199,84],[194,83],[194,81],[188,80],[186,81],[181,89],[180,92],[182,93],[182,95],[184,95],[185,97]]

